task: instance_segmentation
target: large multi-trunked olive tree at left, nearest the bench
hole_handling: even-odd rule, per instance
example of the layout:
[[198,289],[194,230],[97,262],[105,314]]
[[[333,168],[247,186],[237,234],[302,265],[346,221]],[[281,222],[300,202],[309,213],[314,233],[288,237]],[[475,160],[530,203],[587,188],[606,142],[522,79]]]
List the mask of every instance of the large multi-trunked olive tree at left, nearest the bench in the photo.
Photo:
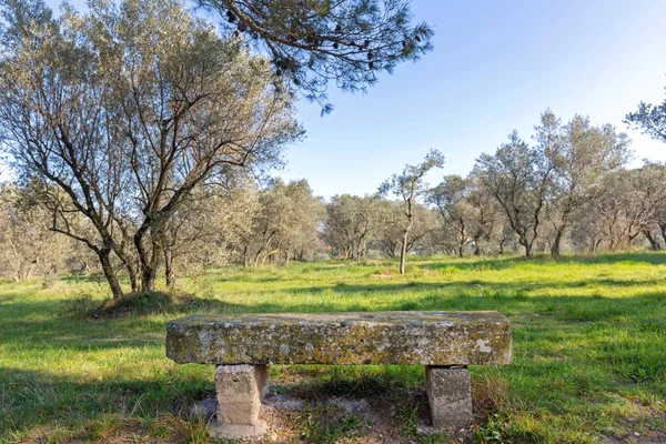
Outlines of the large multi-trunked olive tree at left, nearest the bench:
[[[115,255],[154,289],[165,231],[200,186],[279,161],[297,139],[292,94],[264,58],[180,0],[0,3],[0,131],[19,182],[39,181],[51,230]],[[72,218],[83,216],[81,224]],[[134,269],[138,264],[138,269]]]

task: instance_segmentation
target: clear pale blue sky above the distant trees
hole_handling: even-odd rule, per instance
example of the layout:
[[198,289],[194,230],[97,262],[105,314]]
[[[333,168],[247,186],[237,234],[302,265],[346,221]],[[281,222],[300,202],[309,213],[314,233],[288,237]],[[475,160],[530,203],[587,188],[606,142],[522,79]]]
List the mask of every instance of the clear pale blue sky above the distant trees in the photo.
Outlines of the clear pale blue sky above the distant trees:
[[[48,0],[56,6],[58,0]],[[83,1],[72,1],[82,4]],[[405,163],[441,150],[430,175],[466,174],[517,129],[524,139],[551,108],[626,131],[637,161],[666,160],[666,144],[623,123],[639,101],[666,97],[666,1],[413,0],[435,50],[383,74],[367,94],[331,88],[333,113],[302,102],[304,142],[286,151],[285,179],[319,195],[373,193]]]

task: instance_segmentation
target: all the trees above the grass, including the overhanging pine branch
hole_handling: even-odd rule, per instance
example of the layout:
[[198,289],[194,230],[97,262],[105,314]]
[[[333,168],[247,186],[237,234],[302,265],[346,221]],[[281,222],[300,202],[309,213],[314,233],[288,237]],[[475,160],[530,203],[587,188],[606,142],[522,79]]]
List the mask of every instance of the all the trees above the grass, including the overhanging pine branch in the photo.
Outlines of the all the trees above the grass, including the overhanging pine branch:
[[[330,81],[363,90],[432,48],[404,1],[200,0],[222,32],[180,0],[0,4],[3,276],[98,271],[119,296],[121,275],[152,291],[204,265],[666,248],[666,165],[627,169],[626,134],[577,114],[432,188],[436,150],[372,195],[270,179],[299,93],[327,112]],[[665,109],[627,123],[666,141]]]

